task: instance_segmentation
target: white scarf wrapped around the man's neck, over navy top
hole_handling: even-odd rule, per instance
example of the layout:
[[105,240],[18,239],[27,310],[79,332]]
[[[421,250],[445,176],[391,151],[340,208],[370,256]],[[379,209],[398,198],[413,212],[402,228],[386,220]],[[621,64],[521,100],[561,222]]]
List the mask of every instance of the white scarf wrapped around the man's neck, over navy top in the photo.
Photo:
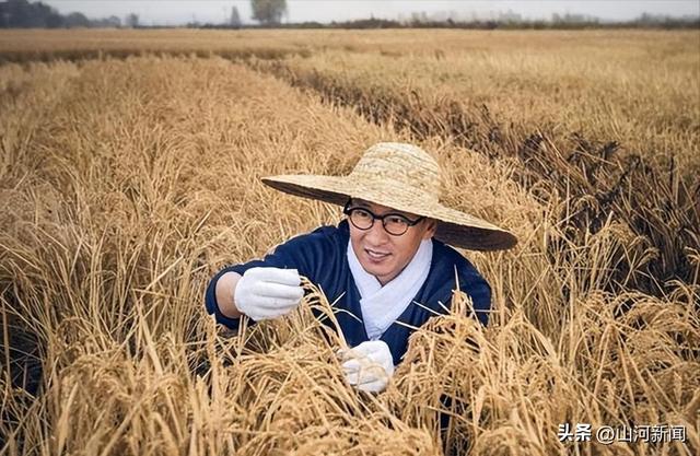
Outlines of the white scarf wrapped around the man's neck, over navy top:
[[348,241],[348,264],[360,291],[364,329],[370,340],[377,340],[404,313],[425,282],[433,258],[432,239],[423,239],[410,262],[392,281],[382,287],[376,277],[364,270],[352,243]]

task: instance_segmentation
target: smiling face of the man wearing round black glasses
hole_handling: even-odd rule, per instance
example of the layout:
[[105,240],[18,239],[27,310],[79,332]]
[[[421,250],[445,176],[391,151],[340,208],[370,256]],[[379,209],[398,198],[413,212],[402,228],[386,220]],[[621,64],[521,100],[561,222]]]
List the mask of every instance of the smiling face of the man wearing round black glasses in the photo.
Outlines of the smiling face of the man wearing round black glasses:
[[[419,217],[410,212],[397,211],[386,206],[375,204],[353,198],[350,208],[363,208],[375,215],[396,213],[413,221]],[[431,219],[423,219],[418,224],[409,226],[406,233],[394,236],[386,232],[381,220],[375,220],[369,230],[360,230],[351,222],[350,243],[360,265],[368,273],[376,277],[382,285],[398,276],[418,252],[421,241],[429,239],[435,234],[436,223]]]

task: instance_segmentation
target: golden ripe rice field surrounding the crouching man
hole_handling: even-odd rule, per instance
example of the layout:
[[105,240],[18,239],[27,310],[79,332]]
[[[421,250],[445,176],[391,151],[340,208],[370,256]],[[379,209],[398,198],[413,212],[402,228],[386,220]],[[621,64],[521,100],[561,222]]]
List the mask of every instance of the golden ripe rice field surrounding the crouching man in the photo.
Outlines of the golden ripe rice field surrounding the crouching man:
[[[698,454],[698,43],[2,31],[0,455]],[[345,174],[380,141],[433,153],[444,202],[520,243],[463,250],[490,325],[457,292],[371,395],[345,383],[312,283],[237,334],[203,292],[341,220],[261,176]],[[596,441],[643,425],[685,439]]]

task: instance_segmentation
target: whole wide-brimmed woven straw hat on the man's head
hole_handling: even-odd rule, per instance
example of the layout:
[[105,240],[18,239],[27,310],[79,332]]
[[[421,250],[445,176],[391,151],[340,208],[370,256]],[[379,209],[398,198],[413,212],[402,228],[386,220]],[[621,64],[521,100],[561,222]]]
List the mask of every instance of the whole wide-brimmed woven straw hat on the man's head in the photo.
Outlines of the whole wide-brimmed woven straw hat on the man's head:
[[511,248],[517,238],[491,223],[440,203],[440,166],[422,149],[380,142],[368,149],[347,176],[282,175],[264,177],[287,194],[345,206],[361,198],[438,221],[434,237],[472,250]]

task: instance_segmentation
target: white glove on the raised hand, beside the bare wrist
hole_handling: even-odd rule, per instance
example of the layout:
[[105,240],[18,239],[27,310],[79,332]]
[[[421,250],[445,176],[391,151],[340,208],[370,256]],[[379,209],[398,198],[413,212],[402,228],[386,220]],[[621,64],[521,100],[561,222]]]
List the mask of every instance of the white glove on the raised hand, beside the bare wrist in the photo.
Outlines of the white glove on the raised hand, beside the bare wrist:
[[304,295],[296,269],[250,268],[233,292],[235,306],[254,320],[272,319],[294,309]]

